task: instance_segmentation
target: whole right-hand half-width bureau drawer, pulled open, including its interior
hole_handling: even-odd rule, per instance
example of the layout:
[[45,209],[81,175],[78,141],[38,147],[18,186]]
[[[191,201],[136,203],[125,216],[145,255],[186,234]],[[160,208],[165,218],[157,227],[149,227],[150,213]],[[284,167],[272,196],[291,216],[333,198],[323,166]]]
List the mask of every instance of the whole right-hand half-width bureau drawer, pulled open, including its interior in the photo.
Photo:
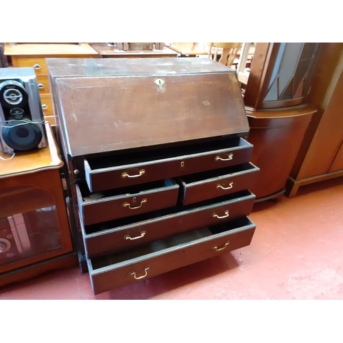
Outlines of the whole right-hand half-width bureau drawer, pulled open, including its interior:
[[259,168],[244,163],[224,169],[182,176],[179,179],[182,204],[193,204],[254,187]]

